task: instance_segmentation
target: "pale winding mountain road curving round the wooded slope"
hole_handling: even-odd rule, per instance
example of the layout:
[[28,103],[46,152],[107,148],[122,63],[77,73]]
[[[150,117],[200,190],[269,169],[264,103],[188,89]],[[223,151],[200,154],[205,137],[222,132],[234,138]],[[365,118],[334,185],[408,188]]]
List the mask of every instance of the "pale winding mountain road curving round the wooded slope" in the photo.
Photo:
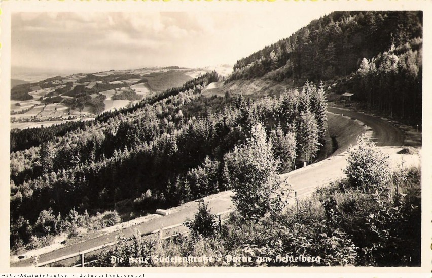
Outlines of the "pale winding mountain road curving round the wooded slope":
[[[373,131],[372,137],[378,146],[401,146],[403,144],[404,135],[402,131],[380,117],[369,116],[333,107],[328,108],[328,110],[332,113],[344,114],[344,116],[356,118],[357,120],[368,125]],[[342,147],[346,148],[347,146]],[[341,178],[343,176],[342,170],[345,165],[346,154],[342,153],[320,161],[317,164],[312,164],[296,171],[281,175],[281,178],[286,180],[284,183],[285,186],[290,184],[291,189],[297,192],[297,196],[305,196],[313,192],[316,187],[325,184],[327,181]],[[206,202],[208,202],[208,207],[211,209],[211,213],[215,214],[231,208],[231,195],[232,192],[222,192],[208,197]],[[39,263],[43,263],[45,261],[59,258],[68,254],[73,254],[113,242],[116,240],[116,236],[118,236],[120,233],[126,237],[129,237],[135,233],[136,229],[139,230],[140,233],[149,233],[150,231],[159,229],[161,227],[182,223],[187,218],[192,218],[197,209],[197,202],[189,202],[182,207],[173,209],[172,213],[167,216],[156,217],[147,222],[124,228],[121,231],[113,231],[112,233],[103,236],[41,254],[38,261]],[[31,266],[32,261],[32,258],[28,258],[19,262],[13,262],[11,263],[11,266]]]

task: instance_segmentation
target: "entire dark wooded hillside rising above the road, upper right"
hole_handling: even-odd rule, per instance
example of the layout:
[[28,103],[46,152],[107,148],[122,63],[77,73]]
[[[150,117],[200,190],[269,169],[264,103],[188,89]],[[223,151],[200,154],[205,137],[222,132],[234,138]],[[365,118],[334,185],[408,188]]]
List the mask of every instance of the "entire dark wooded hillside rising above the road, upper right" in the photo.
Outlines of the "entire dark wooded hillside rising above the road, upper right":
[[[421,124],[422,12],[333,12],[242,58],[227,82],[328,81],[372,109]],[[333,84],[333,82],[337,81]]]

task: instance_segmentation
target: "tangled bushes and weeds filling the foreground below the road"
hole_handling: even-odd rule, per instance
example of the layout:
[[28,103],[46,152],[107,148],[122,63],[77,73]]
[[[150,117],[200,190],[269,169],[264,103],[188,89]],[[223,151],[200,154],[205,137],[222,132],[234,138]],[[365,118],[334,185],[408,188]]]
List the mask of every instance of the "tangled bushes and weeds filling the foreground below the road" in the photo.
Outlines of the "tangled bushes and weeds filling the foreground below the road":
[[[405,170],[395,179],[401,181],[399,189],[396,191],[393,183],[387,183],[388,194],[348,187],[349,180],[335,182],[300,202],[298,209],[267,214],[256,221],[244,221],[239,212],[233,212],[221,232],[211,237],[177,237],[162,242],[139,237],[122,240],[114,250],[99,256],[98,265],[419,266],[420,172],[415,168]],[[202,219],[211,216],[205,206],[201,206],[200,212],[197,215]],[[200,223],[207,226],[204,221]],[[112,257],[130,256],[147,261],[111,262]],[[213,261],[161,262],[168,256],[207,256]],[[314,259],[294,261],[295,257]]]

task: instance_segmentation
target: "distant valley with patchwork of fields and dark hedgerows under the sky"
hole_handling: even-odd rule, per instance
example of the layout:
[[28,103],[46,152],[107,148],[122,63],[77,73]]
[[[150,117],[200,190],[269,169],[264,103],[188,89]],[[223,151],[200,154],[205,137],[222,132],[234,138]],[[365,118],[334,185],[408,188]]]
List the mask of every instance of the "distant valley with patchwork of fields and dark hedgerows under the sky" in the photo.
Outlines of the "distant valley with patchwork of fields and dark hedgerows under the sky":
[[213,69],[222,74],[231,71],[228,65],[202,69],[155,67],[76,73],[31,83],[12,79],[11,129],[91,120],[100,113],[133,106],[171,87],[182,86]]

